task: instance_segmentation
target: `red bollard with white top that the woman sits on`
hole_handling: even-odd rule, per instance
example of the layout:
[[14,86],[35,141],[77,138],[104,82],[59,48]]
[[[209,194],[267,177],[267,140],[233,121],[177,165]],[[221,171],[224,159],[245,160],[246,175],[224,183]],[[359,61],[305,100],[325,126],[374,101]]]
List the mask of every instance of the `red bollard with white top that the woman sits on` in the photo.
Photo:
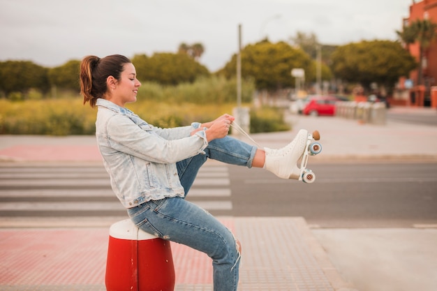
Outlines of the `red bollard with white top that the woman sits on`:
[[110,227],[107,291],[173,291],[175,267],[170,241],[136,227],[130,219]]

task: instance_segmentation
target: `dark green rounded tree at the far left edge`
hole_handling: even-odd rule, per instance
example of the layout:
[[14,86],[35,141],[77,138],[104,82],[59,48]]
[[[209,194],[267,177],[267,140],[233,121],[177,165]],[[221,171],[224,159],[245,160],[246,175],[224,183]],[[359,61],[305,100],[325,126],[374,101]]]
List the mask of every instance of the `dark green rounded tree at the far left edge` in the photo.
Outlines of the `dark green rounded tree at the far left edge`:
[[6,96],[12,92],[25,95],[32,88],[47,92],[50,88],[47,71],[31,61],[0,62],[0,91]]

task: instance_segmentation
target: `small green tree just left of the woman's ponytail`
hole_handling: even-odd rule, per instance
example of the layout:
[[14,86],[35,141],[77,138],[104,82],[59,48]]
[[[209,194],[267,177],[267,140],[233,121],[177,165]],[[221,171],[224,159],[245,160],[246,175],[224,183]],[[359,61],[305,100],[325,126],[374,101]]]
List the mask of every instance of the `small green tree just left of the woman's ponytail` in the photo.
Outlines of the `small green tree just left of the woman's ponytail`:
[[62,66],[50,68],[48,72],[50,84],[60,89],[79,91],[79,70],[80,61],[77,60],[71,60]]

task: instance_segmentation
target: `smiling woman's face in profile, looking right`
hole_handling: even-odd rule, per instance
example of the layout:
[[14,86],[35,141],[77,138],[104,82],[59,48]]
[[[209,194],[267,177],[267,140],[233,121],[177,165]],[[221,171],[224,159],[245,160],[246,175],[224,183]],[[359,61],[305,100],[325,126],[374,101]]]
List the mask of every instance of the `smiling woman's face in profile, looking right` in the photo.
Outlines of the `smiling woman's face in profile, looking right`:
[[115,80],[114,87],[110,89],[110,101],[124,107],[126,103],[133,103],[137,100],[138,87],[141,86],[137,79],[137,72],[133,64],[124,64],[120,80]]

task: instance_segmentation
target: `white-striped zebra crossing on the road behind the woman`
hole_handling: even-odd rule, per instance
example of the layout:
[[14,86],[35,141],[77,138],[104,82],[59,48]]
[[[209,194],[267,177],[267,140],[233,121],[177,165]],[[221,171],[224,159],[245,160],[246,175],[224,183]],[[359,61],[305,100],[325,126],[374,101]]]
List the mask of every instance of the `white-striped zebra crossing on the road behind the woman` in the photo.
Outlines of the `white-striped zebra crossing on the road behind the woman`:
[[[187,200],[207,211],[232,211],[225,165],[205,165]],[[1,216],[126,215],[100,165],[0,165]]]

